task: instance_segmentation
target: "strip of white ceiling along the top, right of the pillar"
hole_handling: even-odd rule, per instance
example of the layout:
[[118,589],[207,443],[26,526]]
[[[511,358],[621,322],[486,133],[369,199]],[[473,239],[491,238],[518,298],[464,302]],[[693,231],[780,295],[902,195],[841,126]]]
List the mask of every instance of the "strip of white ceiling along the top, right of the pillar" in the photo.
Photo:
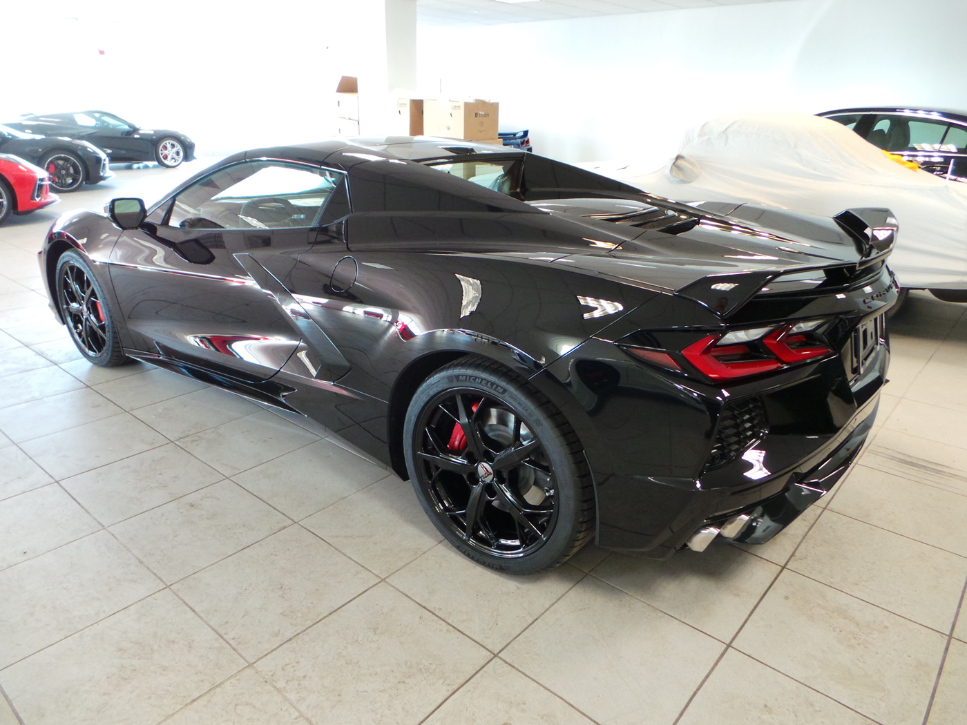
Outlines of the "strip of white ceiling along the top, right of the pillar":
[[534,0],[513,4],[497,0],[417,0],[417,17],[425,25],[497,25],[768,2],[783,0]]

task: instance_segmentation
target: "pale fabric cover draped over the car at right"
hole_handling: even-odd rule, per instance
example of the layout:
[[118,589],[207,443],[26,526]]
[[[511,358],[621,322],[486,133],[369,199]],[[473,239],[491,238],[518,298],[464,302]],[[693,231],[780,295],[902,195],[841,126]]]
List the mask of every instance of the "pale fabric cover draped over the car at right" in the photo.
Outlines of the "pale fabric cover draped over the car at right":
[[678,156],[656,171],[595,170],[685,202],[748,202],[822,217],[887,207],[899,223],[890,267],[900,286],[967,289],[967,184],[897,163],[829,119],[724,116],[688,131]]

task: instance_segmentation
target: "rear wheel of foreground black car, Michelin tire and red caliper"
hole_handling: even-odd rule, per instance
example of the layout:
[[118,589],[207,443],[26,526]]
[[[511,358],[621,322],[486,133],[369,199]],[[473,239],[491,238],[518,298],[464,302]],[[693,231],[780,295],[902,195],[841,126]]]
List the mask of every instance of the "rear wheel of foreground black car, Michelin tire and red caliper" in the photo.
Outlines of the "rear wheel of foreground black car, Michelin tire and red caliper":
[[470,559],[528,574],[562,564],[593,535],[577,435],[503,365],[472,357],[437,370],[414,395],[403,435],[420,503]]

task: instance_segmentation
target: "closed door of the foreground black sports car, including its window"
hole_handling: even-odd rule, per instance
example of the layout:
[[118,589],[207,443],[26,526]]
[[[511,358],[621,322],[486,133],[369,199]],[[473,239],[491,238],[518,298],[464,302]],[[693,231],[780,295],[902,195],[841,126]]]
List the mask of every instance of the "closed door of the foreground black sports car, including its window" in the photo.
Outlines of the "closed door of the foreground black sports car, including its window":
[[124,232],[110,270],[136,343],[246,380],[271,377],[299,353],[327,380],[344,374],[338,351],[314,324],[306,332],[308,315],[278,282],[316,244],[340,182],[309,164],[232,163]]

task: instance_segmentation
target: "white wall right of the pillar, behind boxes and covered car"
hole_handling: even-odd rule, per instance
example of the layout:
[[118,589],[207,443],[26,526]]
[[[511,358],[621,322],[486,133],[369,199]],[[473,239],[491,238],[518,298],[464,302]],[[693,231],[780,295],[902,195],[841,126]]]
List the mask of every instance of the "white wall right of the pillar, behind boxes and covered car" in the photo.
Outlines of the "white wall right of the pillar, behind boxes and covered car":
[[[964,0],[795,0],[502,26],[419,28],[429,95],[499,101],[562,160],[659,163],[722,113],[967,109]],[[921,32],[923,31],[923,32]]]

